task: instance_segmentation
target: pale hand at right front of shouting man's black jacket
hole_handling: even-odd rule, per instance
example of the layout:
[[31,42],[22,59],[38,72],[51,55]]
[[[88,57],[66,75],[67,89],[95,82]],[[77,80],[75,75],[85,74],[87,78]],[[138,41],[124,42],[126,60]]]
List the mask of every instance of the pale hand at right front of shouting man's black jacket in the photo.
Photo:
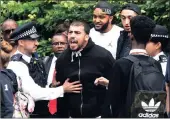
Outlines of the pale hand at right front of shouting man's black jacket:
[[109,85],[109,80],[104,78],[104,77],[99,77],[96,78],[96,80],[94,81],[94,84],[97,85],[103,85],[103,86],[108,86]]

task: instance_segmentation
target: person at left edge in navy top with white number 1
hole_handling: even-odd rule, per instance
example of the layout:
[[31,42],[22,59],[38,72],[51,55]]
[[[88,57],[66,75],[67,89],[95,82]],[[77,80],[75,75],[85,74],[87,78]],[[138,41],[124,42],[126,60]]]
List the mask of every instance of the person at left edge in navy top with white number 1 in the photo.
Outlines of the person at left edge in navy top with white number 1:
[[17,91],[17,80],[12,70],[6,69],[12,46],[4,40],[1,40],[0,46],[1,118],[12,118],[14,112],[13,95]]

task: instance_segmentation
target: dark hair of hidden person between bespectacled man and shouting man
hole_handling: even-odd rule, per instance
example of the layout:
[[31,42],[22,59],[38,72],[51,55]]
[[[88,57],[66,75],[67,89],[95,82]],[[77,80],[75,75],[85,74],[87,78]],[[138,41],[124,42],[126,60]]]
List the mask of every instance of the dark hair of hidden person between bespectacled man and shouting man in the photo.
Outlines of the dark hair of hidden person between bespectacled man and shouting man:
[[70,23],[69,23],[69,22],[64,22],[63,24],[57,25],[57,26],[56,26],[56,29],[55,29],[55,34],[67,32],[69,26],[70,26]]

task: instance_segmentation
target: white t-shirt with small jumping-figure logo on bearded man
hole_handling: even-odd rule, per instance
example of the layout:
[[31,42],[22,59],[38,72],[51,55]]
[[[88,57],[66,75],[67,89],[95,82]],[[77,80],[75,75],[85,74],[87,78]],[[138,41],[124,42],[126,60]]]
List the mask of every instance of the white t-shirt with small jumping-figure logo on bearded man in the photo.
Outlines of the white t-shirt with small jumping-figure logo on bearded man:
[[117,41],[122,30],[123,28],[116,25],[113,25],[112,29],[107,33],[100,33],[92,28],[90,30],[90,37],[96,45],[109,50],[112,56],[116,58]]

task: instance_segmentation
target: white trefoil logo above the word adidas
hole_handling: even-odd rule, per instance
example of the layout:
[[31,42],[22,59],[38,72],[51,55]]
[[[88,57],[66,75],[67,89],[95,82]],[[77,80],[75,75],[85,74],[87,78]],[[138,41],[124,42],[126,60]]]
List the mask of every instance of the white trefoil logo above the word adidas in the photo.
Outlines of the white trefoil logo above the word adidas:
[[142,108],[146,112],[155,112],[159,108],[160,104],[161,104],[161,101],[159,101],[155,104],[153,98],[149,101],[148,105],[145,102],[141,101]]

